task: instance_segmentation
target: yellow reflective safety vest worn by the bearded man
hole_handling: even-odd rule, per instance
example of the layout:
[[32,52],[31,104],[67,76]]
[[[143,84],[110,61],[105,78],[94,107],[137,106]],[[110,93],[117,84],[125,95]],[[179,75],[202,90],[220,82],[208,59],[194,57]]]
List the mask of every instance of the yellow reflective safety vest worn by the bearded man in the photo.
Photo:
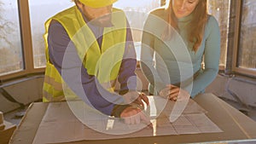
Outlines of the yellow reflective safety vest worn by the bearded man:
[[[101,49],[95,35],[84,22],[83,15],[76,6],[56,14],[45,22],[46,68],[43,88],[44,102],[65,101],[67,96],[77,97],[70,89],[69,95],[64,94],[63,87],[64,85],[66,87],[67,84],[61,78],[61,74],[55,66],[49,61],[47,38],[51,20],[57,20],[65,28],[88,74],[96,76],[105,89],[113,90],[125,52],[126,18],[125,13],[119,9],[113,9],[111,16],[113,26],[104,28]],[[78,76],[74,75],[73,77]]]

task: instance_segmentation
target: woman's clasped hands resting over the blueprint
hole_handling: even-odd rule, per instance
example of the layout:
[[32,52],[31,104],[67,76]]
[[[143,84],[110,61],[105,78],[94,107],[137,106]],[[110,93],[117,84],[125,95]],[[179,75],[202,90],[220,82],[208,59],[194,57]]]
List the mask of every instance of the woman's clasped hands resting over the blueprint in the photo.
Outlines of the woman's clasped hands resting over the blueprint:
[[187,99],[190,97],[186,90],[180,89],[179,87],[172,84],[167,84],[166,88],[160,91],[160,96],[171,101],[182,101],[184,98]]

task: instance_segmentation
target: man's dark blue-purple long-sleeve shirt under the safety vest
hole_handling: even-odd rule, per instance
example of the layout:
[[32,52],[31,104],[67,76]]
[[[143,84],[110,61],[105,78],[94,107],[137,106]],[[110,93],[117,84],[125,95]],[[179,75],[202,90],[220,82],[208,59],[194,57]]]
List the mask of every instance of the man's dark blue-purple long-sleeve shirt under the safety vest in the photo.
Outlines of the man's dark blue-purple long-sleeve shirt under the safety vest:
[[[102,33],[104,30],[104,27],[95,25],[95,23],[90,23],[85,16],[84,16],[84,21],[90,27],[90,30],[94,33],[97,43],[101,48]],[[135,68],[137,65],[136,52],[132,42],[133,40],[131,37],[131,30],[129,28],[128,22],[127,22],[127,27],[128,28],[126,29],[125,53],[123,56],[124,59],[121,62],[121,66],[119,69],[119,77],[118,77],[118,81],[120,84],[119,94],[122,94],[122,95],[124,95],[125,92],[128,91],[127,82],[129,78],[130,78],[129,89],[136,89],[136,79],[135,79],[135,76],[136,76]],[[72,62],[71,66],[76,66],[76,65],[80,66],[81,83],[84,89],[84,93],[93,107],[95,107],[100,112],[103,112],[108,115],[113,114],[114,116],[119,116],[120,112],[122,112],[122,110],[125,109],[125,107],[128,107],[127,105],[116,105],[115,103],[109,101],[112,99],[112,97],[114,98],[114,97],[121,97],[121,96],[117,94],[109,93],[107,90],[104,90],[98,87],[98,85],[100,84],[98,84],[97,79],[95,78],[95,76],[89,75],[87,72],[87,69],[83,65],[81,65],[82,62],[79,59],[79,55],[77,53],[77,50],[73,42],[71,41],[70,37],[68,37],[64,27],[61,26],[61,24],[56,20],[52,20],[50,23],[48,42],[49,42],[48,43],[49,44],[49,60],[56,67],[58,72],[60,72],[60,74],[61,74],[61,69],[70,68],[70,67],[62,66],[63,58],[68,46],[68,53],[72,55],[72,56],[69,56],[69,57],[72,57],[72,59],[70,60]],[[131,77],[134,77],[134,78],[131,78]],[[66,81],[66,83],[67,85],[69,85],[69,82]]]

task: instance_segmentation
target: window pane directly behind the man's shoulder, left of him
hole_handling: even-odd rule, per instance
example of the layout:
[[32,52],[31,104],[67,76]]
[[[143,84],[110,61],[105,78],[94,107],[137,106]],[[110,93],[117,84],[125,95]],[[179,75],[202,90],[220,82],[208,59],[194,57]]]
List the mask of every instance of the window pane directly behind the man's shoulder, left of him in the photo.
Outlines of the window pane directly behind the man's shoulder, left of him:
[[[29,0],[29,14],[32,31],[32,49],[34,68],[45,66],[44,54],[44,22],[49,17],[73,6],[72,1],[53,1],[53,0]],[[40,16],[38,16],[40,15]]]

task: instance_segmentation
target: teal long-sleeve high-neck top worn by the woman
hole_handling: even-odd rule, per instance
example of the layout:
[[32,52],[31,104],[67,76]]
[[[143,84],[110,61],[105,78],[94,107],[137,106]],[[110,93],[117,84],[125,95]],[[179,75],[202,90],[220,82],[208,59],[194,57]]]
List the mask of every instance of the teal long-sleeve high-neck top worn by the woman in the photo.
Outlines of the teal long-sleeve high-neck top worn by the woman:
[[163,38],[163,32],[169,26],[165,9],[155,9],[148,14],[143,28],[141,67],[148,79],[150,93],[157,95],[166,84],[175,84],[194,98],[216,78],[220,57],[218,21],[208,15],[201,46],[195,52],[185,28],[192,17],[193,13],[178,19],[178,32],[170,27],[172,37]]

